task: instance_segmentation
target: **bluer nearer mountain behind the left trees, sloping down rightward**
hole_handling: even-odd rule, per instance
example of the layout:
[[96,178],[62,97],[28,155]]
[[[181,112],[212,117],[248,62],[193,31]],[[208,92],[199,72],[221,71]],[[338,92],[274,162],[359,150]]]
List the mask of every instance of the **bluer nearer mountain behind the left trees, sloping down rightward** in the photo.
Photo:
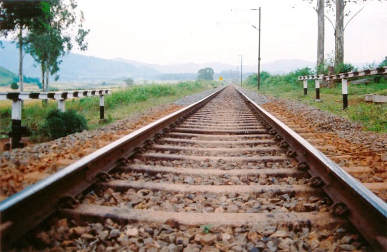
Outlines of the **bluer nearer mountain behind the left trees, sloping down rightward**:
[[[0,66],[12,72],[19,72],[19,51],[15,43],[2,41],[3,49],[0,50]],[[106,81],[113,78],[152,78],[160,74],[149,66],[135,66],[130,63],[117,62],[91,56],[70,53],[65,56],[60,64],[60,81],[65,82],[94,82]],[[40,78],[41,70],[29,54],[23,58],[23,75]],[[51,78],[53,80],[53,78]]]

